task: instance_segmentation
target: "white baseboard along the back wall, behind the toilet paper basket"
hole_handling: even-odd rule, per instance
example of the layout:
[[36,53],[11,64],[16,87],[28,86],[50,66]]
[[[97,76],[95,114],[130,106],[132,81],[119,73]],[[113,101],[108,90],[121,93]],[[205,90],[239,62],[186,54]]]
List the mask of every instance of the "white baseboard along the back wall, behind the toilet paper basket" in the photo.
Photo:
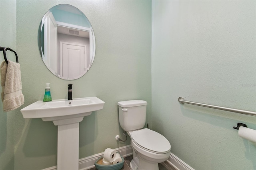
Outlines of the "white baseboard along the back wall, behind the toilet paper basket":
[[[131,145],[116,148],[114,150],[116,150],[116,152],[120,153],[120,155],[122,155],[123,157],[132,155],[132,146]],[[94,162],[98,158],[103,156],[103,154],[104,154],[104,152],[99,153],[99,154],[95,154],[95,155],[92,155],[92,156],[88,156],[86,158],[79,159],[79,170],[88,170],[90,168],[94,168],[95,167]],[[46,169],[43,169],[43,170],[57,170],[57,166],[52,166],[50,168],[46,168]]]

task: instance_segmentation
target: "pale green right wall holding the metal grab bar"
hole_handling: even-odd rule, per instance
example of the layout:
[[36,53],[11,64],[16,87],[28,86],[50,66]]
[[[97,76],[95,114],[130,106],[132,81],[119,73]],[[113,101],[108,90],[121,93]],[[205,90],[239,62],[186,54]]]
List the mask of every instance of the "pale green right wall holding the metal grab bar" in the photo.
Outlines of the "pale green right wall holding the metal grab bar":
[[196,170],[256,169],[256,144],[238,122],[256,117],[180,105],[256,111],[256,2],[152,1],[152,121]]

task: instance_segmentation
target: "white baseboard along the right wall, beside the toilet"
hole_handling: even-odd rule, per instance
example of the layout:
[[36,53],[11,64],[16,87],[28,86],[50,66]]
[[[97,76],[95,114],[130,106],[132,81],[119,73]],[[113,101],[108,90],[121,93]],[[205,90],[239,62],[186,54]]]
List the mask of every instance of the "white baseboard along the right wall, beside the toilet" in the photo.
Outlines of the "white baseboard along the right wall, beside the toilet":
[[169,158],[166,160],[170,165],[172,165],[176,170],[194,170],[191,166],[186,164],[180,158],[175,156],[173,153],[170,154]]

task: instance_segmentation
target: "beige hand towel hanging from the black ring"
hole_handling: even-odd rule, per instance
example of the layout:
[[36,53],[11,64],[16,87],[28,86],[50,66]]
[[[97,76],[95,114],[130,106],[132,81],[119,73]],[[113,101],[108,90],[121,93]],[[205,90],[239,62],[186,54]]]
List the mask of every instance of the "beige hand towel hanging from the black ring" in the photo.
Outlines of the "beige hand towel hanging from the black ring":
[[2,101],[5,112],[17,109],[24,104],[22,94],[20,64],[8,60],[3,61],[1,66]]

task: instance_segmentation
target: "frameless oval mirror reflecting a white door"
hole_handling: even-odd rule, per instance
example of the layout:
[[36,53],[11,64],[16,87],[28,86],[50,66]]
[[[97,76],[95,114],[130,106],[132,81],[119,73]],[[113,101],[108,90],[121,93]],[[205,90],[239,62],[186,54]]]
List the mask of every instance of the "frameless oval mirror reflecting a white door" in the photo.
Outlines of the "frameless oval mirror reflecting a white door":
[[46,67],[57,77],[82,77],[95,57],[95,36],[86,16],[76,7],[60,4],[42,18],[38,46]]

